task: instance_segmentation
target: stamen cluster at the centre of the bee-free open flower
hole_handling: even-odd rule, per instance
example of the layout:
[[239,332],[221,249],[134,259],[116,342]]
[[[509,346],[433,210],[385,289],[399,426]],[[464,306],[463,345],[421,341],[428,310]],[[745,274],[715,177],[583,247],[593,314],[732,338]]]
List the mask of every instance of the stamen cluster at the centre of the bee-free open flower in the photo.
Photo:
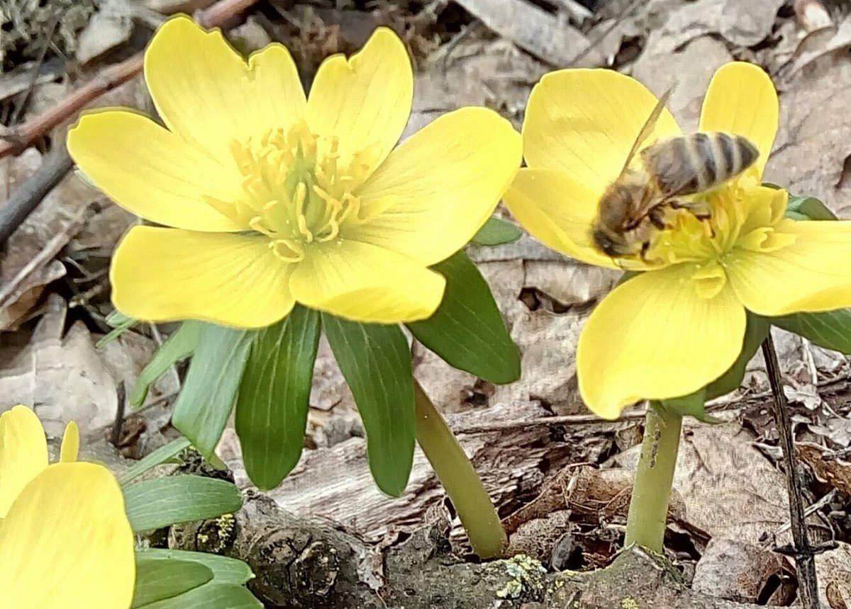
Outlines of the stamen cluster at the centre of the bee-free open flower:
[[269,239],[285,262],[299,262],[307,247],[336,240],[346,223],[363,221],[355,190],[367,178],[366,155],[343,159],[337,138],[320,138],[304,121],[287,132],[231,142],[242,174],[236,200],[208,199],[250,234]]

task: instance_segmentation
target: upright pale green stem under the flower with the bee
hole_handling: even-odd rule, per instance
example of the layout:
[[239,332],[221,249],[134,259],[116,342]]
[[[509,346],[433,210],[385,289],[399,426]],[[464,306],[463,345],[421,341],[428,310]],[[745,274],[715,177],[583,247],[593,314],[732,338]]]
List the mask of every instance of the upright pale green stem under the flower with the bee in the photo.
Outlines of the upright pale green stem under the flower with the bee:
[[626,519],[625,546],[641,545],[662,553],[668,502],[677,466],[683,417],[648,406],[641,457],[632,487],[630,513]]

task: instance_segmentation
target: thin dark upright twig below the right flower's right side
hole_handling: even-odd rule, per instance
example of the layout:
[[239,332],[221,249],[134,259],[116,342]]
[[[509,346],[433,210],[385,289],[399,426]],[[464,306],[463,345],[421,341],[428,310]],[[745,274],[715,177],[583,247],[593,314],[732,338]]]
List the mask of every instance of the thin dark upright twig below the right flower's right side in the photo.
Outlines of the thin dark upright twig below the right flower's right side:
[[791,515],[792,543],[791,554],[795,556],[798,576],[798,598],[805,609],[820,609],[818,580],[815,575],[815,552],[809,543],[807,516],[803,506],[802,482],[795,454],[795,439],[792,437],[789,420],[789,404],[783,392],[783,379],[780,376],[780,363],[774,350],[774,341],[769,334],[762,342],[762,356],[768,371],[768,381],[774,393],[772,401],[774,424],[780,435],[780,447],[786,462],[786,489],[789,492],[789,510]]

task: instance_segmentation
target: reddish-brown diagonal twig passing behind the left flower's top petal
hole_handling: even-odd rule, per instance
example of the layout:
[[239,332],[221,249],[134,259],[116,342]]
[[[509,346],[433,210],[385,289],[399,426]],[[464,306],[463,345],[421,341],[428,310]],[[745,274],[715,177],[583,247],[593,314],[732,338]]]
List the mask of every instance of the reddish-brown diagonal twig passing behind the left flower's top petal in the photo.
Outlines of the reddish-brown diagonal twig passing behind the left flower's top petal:
[[[205,27],[223,25],[234,15],[241,13],[257,0],[220,0],[210,8],[196,15],[198,23]],[[9,129],[4,135],[5,141],[0,141],[0,158],[8,155],[20,155],[37,138],[42,137],[51,129],[66,121],[68,118],[83,110],[94,99],[104,93],[128,82],[142,70],[143,53],[137,53],[119,64],[111,65],[100,72],[91,82],[78,88],[68,95],[54,108],[39,116],[31,118],[20,125]]]

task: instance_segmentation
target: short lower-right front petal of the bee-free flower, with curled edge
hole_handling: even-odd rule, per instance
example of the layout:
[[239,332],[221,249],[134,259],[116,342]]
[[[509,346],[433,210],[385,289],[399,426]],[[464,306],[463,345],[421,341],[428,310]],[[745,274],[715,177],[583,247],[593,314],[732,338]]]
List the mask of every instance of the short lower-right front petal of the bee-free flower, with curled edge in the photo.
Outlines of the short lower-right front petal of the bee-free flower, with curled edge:
[[295,300],[345,319],[379,324],[431,316],[446,280],[393,251],[357,241],[315,245],[289,287]]

